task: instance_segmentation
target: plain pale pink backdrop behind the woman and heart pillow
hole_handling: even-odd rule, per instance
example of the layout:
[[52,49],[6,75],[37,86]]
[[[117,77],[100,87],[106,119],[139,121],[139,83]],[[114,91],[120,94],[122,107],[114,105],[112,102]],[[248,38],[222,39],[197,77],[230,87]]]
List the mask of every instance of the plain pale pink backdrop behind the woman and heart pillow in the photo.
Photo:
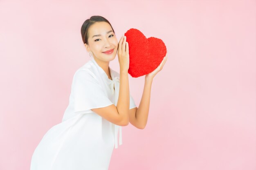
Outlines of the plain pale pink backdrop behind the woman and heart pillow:
[[[92,15],[118,41],[136,28],[161,38],[144,130],[123,128],[110,170],[256,169],[256,1],[0,1],[0,170],[28,170],[61,122],[74,72],[89,55],[80,28]],[[118,57],[110,67],[119,71]],[[144,76],[129,75],[137,106]]]

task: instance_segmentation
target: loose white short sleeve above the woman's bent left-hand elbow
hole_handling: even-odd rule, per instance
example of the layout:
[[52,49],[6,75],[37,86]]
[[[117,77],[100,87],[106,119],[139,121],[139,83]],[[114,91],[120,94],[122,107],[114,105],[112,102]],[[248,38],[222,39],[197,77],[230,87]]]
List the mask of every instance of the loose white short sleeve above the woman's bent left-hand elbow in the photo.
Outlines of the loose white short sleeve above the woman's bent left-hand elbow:
[[73,90],[75,113],[93,113],[92,108],[102,108],[113,104],[98,80],[86,70],[80,70],[74,74]]

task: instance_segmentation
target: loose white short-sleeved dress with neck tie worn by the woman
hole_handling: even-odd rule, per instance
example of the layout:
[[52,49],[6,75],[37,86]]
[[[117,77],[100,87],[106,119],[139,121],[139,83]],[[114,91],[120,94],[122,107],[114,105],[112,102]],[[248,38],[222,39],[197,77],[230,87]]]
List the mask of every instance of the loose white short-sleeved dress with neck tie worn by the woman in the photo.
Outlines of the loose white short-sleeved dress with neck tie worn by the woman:
[[[118,131],[122,144],[121,126],[91,109],[117,106],[119,73],[110,68],[110,74],[112,80],[94,58],[74,73],[62,122],[43,136],[32,155],[30,170],[108,170],[114,146],[118,146]],[[130,95],[130,109],[135,107]]]

